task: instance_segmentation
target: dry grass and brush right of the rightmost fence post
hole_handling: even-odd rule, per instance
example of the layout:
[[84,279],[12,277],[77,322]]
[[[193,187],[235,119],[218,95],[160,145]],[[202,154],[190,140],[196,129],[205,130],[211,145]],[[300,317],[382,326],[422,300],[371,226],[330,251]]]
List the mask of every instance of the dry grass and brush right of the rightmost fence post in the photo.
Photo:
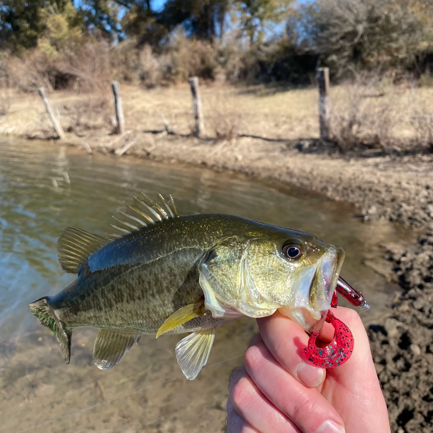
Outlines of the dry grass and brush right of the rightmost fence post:
[[362,80],[333,87],[330,122],[343,151],[359,148],[425,150],[431,142],[432,88]]

